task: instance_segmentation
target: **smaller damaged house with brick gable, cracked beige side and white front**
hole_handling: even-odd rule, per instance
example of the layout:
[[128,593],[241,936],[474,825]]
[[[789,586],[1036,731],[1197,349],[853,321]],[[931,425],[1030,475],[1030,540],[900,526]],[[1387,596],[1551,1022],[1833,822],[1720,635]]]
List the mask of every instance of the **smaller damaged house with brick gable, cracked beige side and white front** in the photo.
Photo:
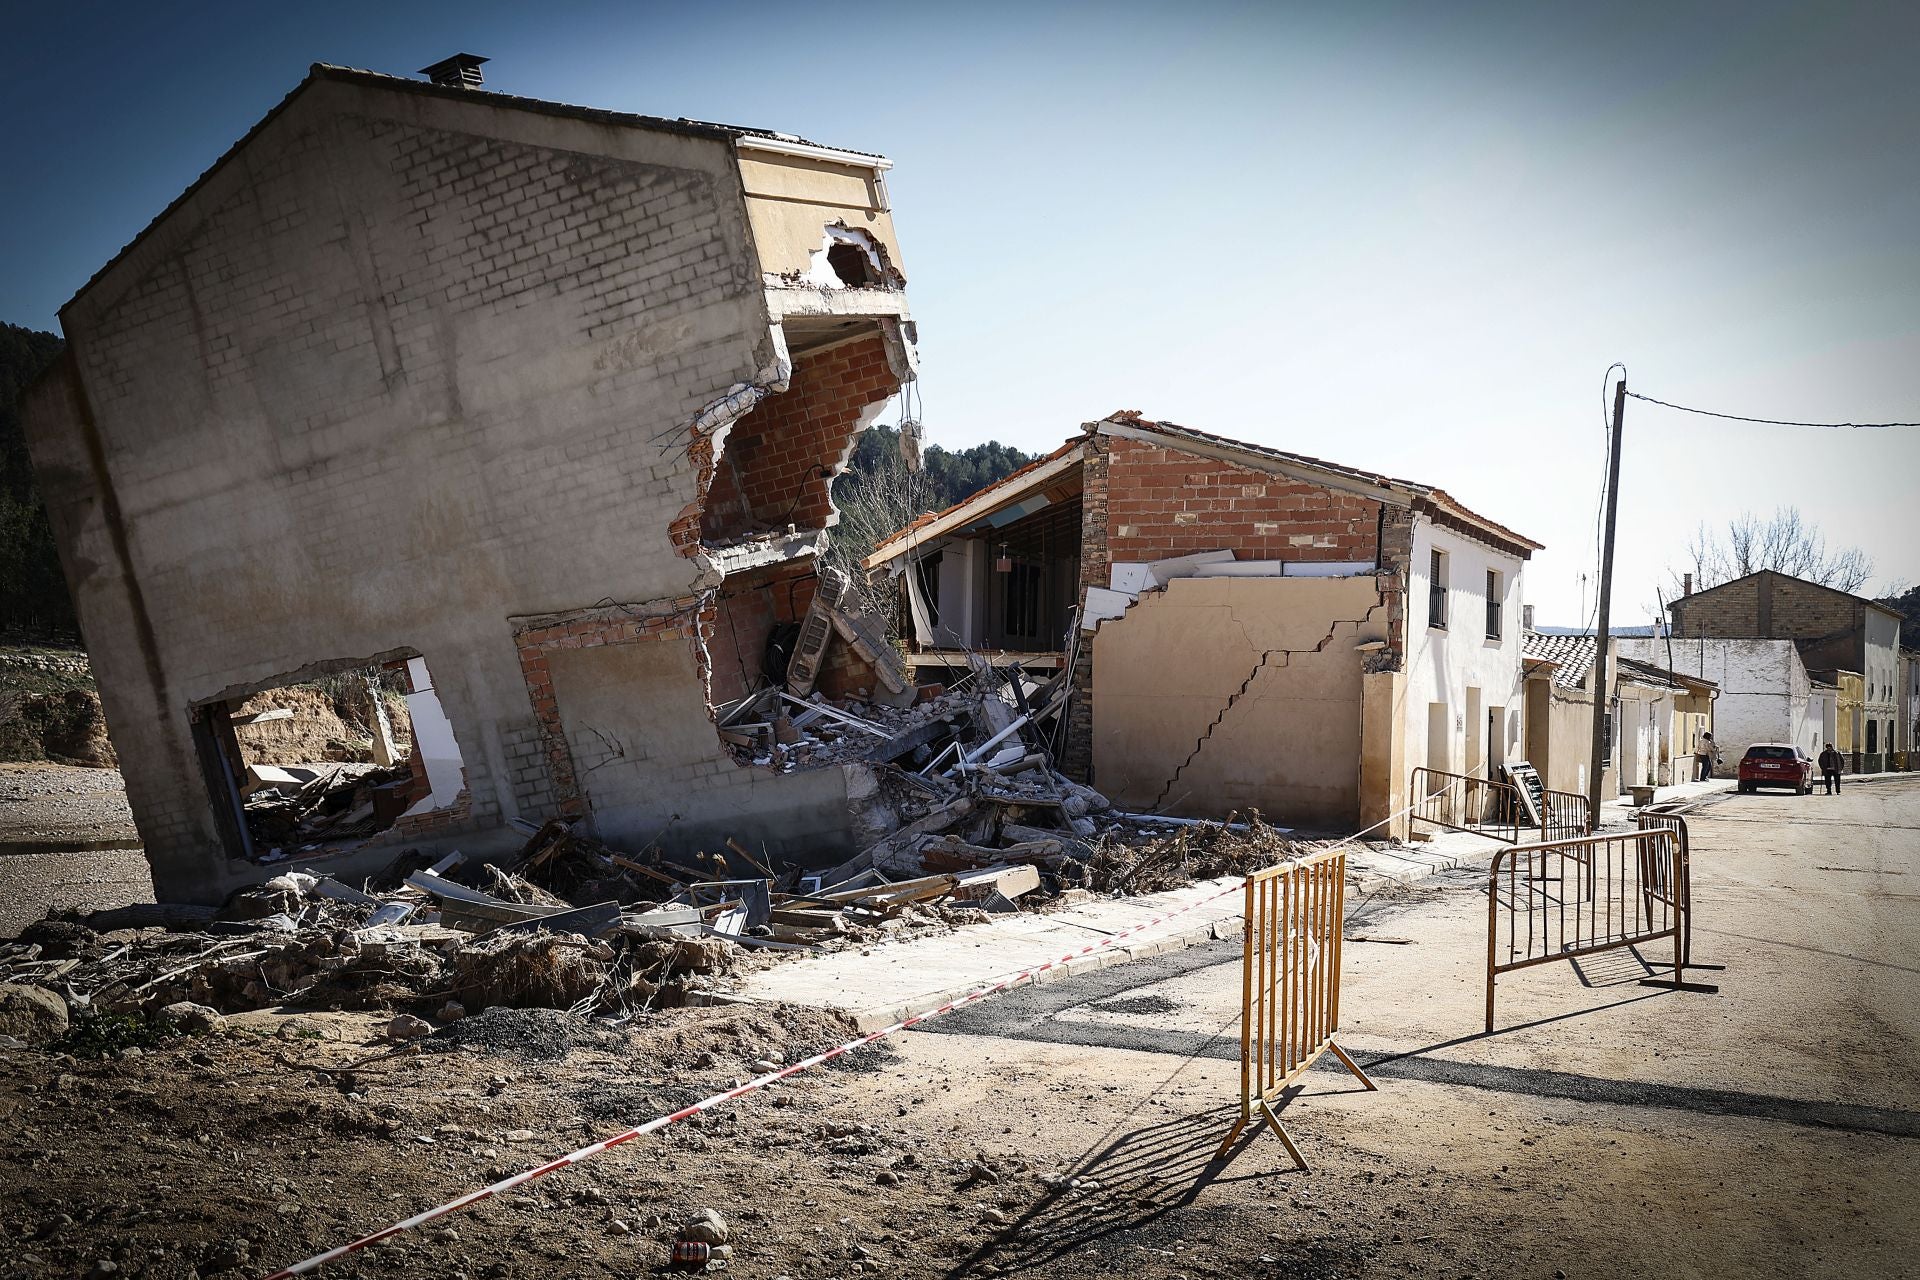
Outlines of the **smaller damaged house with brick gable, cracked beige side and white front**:
[[868,568],[914,662],[1071,664],[1062,760],[1114,804],[1350,827],[1417,766],[1517,756],[1538,547],[1432,486],[1121,413]]

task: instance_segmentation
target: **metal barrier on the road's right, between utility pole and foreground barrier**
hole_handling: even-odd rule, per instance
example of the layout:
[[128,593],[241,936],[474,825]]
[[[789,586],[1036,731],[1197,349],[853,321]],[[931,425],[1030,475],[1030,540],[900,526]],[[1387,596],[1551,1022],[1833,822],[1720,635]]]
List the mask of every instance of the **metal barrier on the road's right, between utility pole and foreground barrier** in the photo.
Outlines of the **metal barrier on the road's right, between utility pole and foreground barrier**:
[[1638,831],[1523,844],[1494,854],[1486,883],[1486,1031],[1498,975],[1644,942],[1674,940],[1670,979],[1645,986],[1715,992],[1686,969],[1692,871],[1686,819],[1645,814]]

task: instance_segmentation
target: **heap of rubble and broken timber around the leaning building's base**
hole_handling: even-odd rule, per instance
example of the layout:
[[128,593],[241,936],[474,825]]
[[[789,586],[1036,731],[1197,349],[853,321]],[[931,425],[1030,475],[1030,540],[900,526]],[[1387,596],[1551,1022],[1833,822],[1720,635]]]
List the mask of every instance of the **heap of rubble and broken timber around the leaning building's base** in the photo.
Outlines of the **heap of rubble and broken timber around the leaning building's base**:
[[[497,862],[407,850],[361,885],[286,871],[219,910],[154,904],[38,921],[0,944],[0,1034],[56,1038],[69,1009],[163,1019],[188,1034],[261,1007],[384,1009],[396,1040],[488,1034],[490,1009],[620,1027],[710,1004],[747,963],[1089,892],[1152,892],[1294,852],[1258,814],[1167,835],[1165,819],[1119,814],[1056,773],[1046,723],[1066,700],[1058,677],[1033,685],[1018,668],[979,664],[960,687],[914,697],[895,708],[774,689],[724,718],[768,758],[858,762],[879,839],[839,865],[739,841],[676,856],[618,850],[570,819],[515,823],[528,841]],[[338,823],[376,775],[330,766],[286,789],[263,771],[253,804],[276,806],[290,831]]]

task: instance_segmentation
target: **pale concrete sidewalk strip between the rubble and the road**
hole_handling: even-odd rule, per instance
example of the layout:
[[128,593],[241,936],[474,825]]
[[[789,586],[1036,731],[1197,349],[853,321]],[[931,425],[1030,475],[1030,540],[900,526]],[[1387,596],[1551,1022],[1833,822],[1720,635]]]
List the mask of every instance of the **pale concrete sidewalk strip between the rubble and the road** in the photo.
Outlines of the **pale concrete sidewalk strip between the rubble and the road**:
[[[1438,833],[1419,846],[1352,844],[1346,850],[1348,902],[1388,885],[1411,885],[1436,871],[1484,864],[1498,848],[1507,846],[1463,831]],[[860,1031],[876,1031],[1169,912],[1183,913],[1137,938],[1058,963],[1033,981],[1050,983],[1215,938],[1236,938],[1242,929],[1242,877],[1231,875],[1158,894],[1100,898],[1048,915],[1004,915],[943,936],[808,956],[751,975],[732,998],[837,1009],[851,1015]]]

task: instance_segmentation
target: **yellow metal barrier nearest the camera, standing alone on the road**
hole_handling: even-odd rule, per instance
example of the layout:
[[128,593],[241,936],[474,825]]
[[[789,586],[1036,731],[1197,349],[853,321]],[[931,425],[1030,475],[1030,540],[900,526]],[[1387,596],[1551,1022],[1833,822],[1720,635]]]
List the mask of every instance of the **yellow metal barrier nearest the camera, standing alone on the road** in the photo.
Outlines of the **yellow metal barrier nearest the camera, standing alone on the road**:
[[1275,1100],[1321,1054],[1375,1088],[1334,1042],[1340,1029],[1340,925],[1346,917],[1346,854],[1329,850],[1246,877],[1246,933],[1240,948],[1240,1119],[1219,1144],[1233,1146],[1248,1125],[1279,1134],[1294,1165],[1300,1148],[1281,1125]]

